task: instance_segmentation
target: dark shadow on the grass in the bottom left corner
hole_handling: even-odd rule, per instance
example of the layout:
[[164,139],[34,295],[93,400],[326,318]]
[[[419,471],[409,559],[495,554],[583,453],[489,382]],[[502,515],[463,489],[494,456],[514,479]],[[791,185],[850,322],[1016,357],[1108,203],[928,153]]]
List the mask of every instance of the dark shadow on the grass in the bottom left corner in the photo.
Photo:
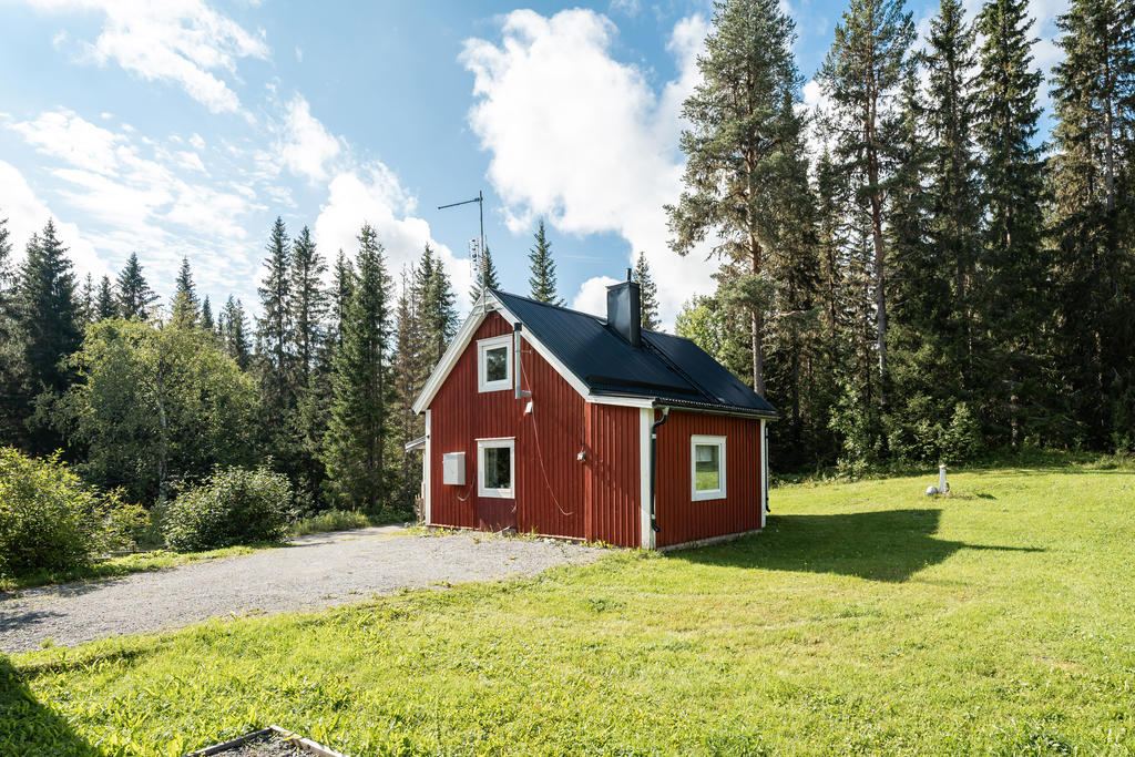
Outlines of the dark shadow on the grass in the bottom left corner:
[[101,755],[70,724],[35,699],[0,655],[0,755]]

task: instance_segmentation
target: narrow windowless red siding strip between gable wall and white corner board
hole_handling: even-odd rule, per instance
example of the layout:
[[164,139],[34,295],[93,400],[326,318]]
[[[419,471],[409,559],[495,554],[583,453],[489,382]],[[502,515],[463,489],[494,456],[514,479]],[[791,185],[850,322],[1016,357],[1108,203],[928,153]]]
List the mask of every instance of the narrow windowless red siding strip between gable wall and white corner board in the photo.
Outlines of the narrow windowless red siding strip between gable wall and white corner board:
[[624,547],[641,540],[639,409],[587,405],[588,538]]

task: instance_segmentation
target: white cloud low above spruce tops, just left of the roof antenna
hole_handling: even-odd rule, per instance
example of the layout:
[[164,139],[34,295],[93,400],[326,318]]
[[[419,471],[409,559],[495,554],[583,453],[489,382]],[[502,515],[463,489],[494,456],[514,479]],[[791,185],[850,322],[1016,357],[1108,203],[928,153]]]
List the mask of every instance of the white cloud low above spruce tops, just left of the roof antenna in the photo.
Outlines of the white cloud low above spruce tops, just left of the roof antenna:
[[328,259],[339,250],[348,255],[359,249],[359,229],[370,224],[386,249],[387,270],[397,278],[402,267],[421,256],[429,243],[442,259],[457,295],[457,305],[469,308],[468,292],[472,283],[468,260],[430,236],[429,224],[413,217],[414,201],[397,178],[381,163],[343,171],[328,185],[327,202],[316,219],[316,243]]

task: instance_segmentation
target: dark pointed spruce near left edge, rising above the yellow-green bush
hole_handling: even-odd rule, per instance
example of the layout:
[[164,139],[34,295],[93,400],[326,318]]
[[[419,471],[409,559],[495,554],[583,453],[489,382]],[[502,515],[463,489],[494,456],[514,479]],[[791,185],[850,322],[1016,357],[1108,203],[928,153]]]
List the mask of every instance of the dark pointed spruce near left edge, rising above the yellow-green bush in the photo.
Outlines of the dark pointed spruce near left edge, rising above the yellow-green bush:
[[61,393],[73,378],[61,361],[78,350],[83,329],[75,274],[52,220],[27,244],[18,293],[32,389]]

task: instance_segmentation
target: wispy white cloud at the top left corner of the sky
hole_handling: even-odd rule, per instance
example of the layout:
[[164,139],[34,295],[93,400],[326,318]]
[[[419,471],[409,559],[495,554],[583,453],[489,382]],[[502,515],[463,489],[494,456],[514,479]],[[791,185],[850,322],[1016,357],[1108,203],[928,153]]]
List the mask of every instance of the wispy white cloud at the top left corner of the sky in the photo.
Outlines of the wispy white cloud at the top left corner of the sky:
[[[116,61],[151,82],[171,82],[211,112],[235,112],[236,92],[217,74],[234,74],[241,58],[268,57],[263,35],[246,32],[203,0],[31,0],[49,10],[99,10],[106,20],[98,40],[82,51],[92,60]],[[59,44],[65,43],[64,37]]]

